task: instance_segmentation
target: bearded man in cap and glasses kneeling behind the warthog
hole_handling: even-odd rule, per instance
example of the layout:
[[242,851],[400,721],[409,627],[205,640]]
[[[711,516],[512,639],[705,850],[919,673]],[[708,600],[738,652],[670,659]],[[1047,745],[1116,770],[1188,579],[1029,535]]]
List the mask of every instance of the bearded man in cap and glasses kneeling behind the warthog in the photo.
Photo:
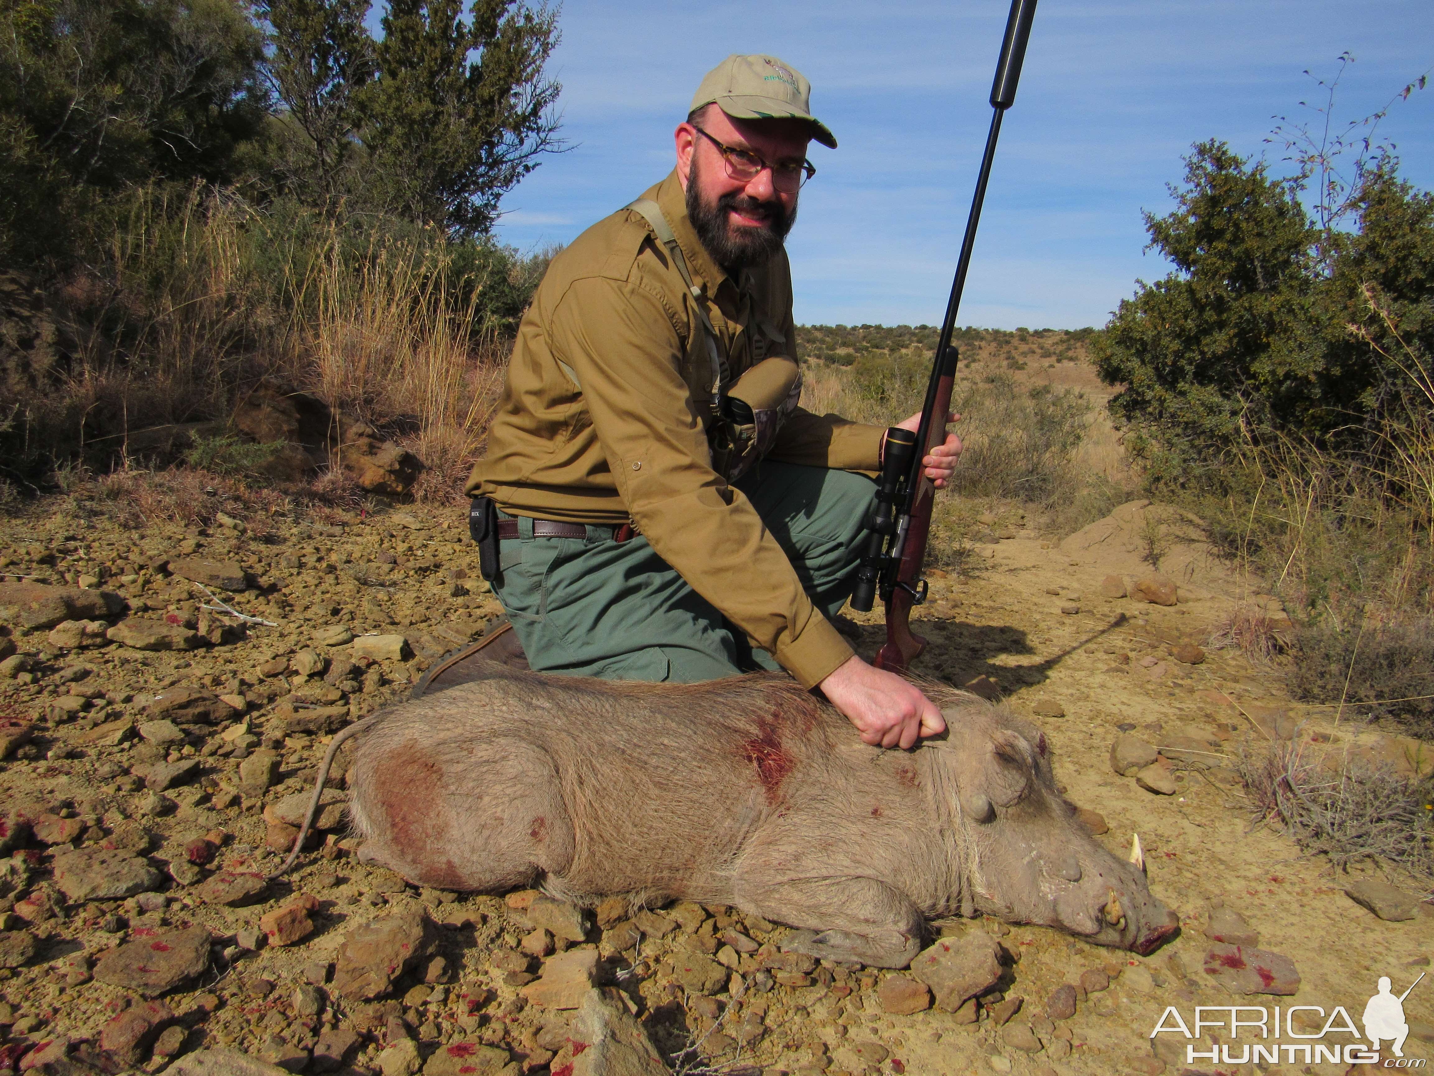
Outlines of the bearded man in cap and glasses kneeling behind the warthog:
[[[554,258],[467,492],[496,508],[493,590],[535,670],[786,669],[868,743],[909,747],[941,713],[829,620],[873,492],[852,472],[879,468],[883,429],[797,405],[783,240],[809,142],[836,148],[809,92],[771,56],[707,75],[675,169]],[[923,461],[938,486],[959,452],[952,435]]]

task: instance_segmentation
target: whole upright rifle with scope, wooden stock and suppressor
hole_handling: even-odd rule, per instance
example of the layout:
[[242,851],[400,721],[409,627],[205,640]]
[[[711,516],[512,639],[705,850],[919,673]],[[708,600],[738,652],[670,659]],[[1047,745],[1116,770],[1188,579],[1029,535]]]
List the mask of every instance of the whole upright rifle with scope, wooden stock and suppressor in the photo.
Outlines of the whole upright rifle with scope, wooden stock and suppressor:
[[[886,430],[882,469],[876,481],[876,502],[868,521],[866,551],[856,572],[852,608],[869,613],[878,593],[886,605],[886,644],[876,654],[876,667],[902,673],[926,647],[926,640],[911,630],[911,608],[926,600],[926,580],[921,565],[926,557],[926,537],[931,529],[931,508],[936,488],[925,475],[922,459],[932,446],[946,439],[946,416],[951,413],[951,390],[956,377],[956,349],[951,334],[956,327],[961,293],[971,268],[971,250],[977,241],[981,204],[985,201],[987,181],[995,159],[995,142],[1001,135],[1001,118],[1015,103],[1015,85],[1021,77],[1025,43],[1031,36],[1035,0],[1011,0],[1011,14],[1005,22],[1005,40],[991,83],[991,131],[987,133],[985,154],[977,175],[977,191],[967,217],[967,234],[961,240],[956,277],[951,283],[946,316],[936,340],[936,356],[926,383],[926,400],[921,409],[921,425],[915,433],[892,426]],[[916,446],[921,450],[916,450]]]

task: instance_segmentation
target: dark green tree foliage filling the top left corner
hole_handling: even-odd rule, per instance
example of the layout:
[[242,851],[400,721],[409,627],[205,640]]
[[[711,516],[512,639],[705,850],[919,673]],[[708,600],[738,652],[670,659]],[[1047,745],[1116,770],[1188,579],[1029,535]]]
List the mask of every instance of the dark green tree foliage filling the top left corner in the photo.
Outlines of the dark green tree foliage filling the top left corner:
[[270,100],[238,0],[0,4],[0,261],[63,264],[109,194],[222,184]]

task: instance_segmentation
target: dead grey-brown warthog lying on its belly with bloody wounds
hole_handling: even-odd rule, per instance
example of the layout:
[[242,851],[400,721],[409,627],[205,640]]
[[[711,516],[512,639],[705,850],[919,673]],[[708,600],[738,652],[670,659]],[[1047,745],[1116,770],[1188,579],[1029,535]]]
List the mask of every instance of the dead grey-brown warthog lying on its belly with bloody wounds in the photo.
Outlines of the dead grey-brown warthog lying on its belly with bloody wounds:
[[905,967],[926,920],[958,912],[1139,953],[1176,931],[1140,869],[1077,822],[1043,732],[926,690],[949,733],[901,752],[784,676],[492,666],[356,726],[348,811],[366,858],[419,885],[728,904],[878,967]]

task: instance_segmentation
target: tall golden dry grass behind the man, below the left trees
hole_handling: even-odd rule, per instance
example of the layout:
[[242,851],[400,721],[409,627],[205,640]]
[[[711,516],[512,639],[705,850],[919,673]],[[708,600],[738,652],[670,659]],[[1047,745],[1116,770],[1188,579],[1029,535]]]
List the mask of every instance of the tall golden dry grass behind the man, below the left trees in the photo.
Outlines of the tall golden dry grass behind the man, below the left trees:
[[429,465],[416,496],[452,498],[506,357],[479,327],[488,284],[472,273],[432,235],[363,238],[199,189],[136,195],[105,264],[60,291],[65,382],[0,416],[0,433],[37,446],[26,473],[0,465],[0,478],[33,482],[76,446],[96,471],[169,463],[188,426],[222,423],[270,379],[377,426]]

